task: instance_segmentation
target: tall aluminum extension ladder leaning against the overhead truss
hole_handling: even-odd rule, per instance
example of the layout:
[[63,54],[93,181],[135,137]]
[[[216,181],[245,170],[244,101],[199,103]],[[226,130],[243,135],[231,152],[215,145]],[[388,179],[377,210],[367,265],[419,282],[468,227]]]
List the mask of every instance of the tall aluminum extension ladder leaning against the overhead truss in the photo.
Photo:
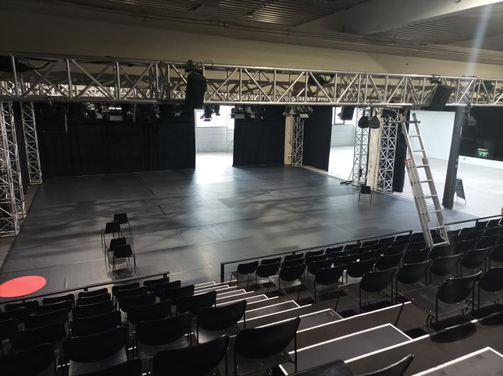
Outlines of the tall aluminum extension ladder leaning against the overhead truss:
[[[416,114],[412,114],[413,121],[404,120],[402,114],[399,115],[401,123],[401,131],[404,133],[405,139],[407,141],[407,148],[409,153],[409,158],[406,160],[407,172],[409,174],[409,180],[411,182],[412,194],[414,197],[414,202],[416,202],[416,209],[419,215],[419,221],[421,221],[421,228],[423,228],[424,238],[428,247],[431,249],[436,245],[449,244],[449,238],[445,226],[443,223],[442,208],[440,206],[440,200],[438,199],[437,189],[435,187],[435,182],[433,182],[433,176],[431,175],[430,164],[428,158],[426,157],[426,151],[424,149],[423,138],[421,138],[421,133],[419,132],[418,119]],[[409,135],[407,132],[406,124],[413,124],[416,127],[416,134]],[[417,138],[419,141],[419,149],[414,149],[411,143],[411,138]],[[414,155],[421,153],[421,162],[416,163]],[[417,158],[419,160],[419,157]],[[418,169],[423,169],[426,175],[421,177]],[[429,193],[424,192],[423,187],[428,184]],[[433,201],[434,210],[426,204],[426,199],[431,199]],[[436,217],[436,223],[431,226],[430,215],[434,214]],[[439,243],[434,243],[431,231],[438,231],[442,241]]]

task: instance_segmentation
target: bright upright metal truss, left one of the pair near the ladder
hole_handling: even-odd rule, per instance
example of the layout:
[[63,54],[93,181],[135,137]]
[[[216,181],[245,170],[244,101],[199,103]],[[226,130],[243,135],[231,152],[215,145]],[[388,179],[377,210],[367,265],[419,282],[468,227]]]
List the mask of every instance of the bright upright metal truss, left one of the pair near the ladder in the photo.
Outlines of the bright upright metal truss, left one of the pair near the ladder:
[[[357,108],[356,121],[369,116],[370,109]],[[367,182],[367,162],[369,160],[369,128],[355,127],[355,150],[353,151],[353,169],[351,171],[352,184],[364,185]]]

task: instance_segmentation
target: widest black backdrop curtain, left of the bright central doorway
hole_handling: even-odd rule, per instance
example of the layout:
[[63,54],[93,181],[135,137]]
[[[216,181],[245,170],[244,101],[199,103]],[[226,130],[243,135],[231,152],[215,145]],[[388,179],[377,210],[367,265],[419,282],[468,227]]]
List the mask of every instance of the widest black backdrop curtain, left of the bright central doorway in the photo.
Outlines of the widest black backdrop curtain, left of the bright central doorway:
[[[62,109],[54,111],[55,106]],[[133,118],[123,106],[124,120],[108,121],[85,117],[82,109],[36,104],[44,177],[195,168],[193,114],[174,118],[171,106],[161,106],[157,117],[148,105],[136,105]]]

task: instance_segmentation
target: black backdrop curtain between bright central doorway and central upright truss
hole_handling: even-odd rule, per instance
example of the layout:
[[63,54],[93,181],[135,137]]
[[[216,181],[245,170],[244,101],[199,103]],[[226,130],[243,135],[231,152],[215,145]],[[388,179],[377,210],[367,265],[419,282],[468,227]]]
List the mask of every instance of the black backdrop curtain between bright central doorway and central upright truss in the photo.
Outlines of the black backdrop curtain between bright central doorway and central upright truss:
[[284,111],[284,106],[266,106],[264,118],[235,119],[233,166],[283,164]]

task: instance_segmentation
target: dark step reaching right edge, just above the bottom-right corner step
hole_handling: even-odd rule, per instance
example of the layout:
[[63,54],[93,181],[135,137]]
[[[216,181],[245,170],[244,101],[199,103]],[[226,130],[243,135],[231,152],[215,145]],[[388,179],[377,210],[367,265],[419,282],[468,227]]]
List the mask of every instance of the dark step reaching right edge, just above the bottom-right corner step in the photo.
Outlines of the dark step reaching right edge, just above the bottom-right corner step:
[[[414,361],[407,370],[407,374],[414,375],[485,347],[503,353],[502,333],[503,312],[499,312],[487,316],[485,319],[472,320],[465,324],[414,338],[400,345],[344,360],[347,361],[352,371],[359,375],[382,368],[408,354],[413,354]],[[470,375],[493,374],[483,370],[478,373],[470,372]]]

